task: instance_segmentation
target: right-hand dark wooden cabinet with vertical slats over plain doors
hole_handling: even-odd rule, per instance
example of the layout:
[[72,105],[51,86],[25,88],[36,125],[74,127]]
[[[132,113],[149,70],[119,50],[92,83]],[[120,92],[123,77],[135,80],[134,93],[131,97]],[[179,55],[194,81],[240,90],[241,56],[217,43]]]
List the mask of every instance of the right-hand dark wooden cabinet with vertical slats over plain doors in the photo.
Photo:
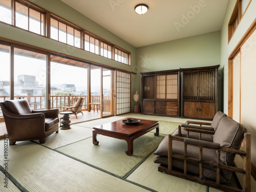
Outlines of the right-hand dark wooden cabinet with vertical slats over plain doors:
[[218,68],[181,69],[181,117],[213,119],[218,112]]

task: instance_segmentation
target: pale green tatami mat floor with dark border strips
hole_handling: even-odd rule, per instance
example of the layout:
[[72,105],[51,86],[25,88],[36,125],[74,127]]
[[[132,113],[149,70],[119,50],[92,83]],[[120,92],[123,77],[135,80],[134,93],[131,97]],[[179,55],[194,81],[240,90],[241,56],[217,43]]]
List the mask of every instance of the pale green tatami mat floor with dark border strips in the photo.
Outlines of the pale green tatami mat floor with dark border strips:
[[[58,134],[53,134],[47,138],[47,142],[42,145],[38,141],[19,142],[17,145],[9,146],[8,153],[11,164],[8,170],[10,170],[12,180],[9,180],[8,189],[4,187],[3,182],[0,182],[0,191],[220,191],[158,172],[158,164],[153,162],[154,154],[145,157],[124,177],[113,174],[114,172],[109,170],[108,166],[97,165],[97,158],[90,161],[88,153],[95,153],[90,148],[93,146],[91,142],[92,127],[99,123],[112,122],[126,117],[157,120],[162,134],[168,134],[171,124],[174,127],[177,126],[175,123],[185,123],[188,120],[129,113],[72,124],[71,130],[60,130]],[[107,138],[109,137],[101,137],[100,142],[103,143],[104,139]],[[89,142],[84,139],[89,139]],[[0,143],[0,150],[3,151],[3,140],[0,140]],[[74,152],[79,143],[83,146],[81,153],[86,156],[79,154],[79,151]],[[89,150],[87,150],[87,146],[89,146]],[[106,144],[104,146],[108,147]],[[103,145],[101,145],[101,149],[103,149]],[[76,155],[72,157],[74,153]],[[113,158],[115,153],[118,153],[116,149],[112,155],[105,154],[98,161],[104,162],[104,159]],[[123,154],[124,151],[122,150],[121,156]],[[0,157],[0,179],[3,180],[5,177],[3,174],[3,153],[0,154]],[[125,157],[126,155],[122,158]],[[118,161],[119,163],[123,161],[120,159],[114,158],[108,163],[117,164]],[[133,162],[132,159],[127,160],[125,165],[129,166]],[[251,191],[256,191],[256,181],[253,178]]]

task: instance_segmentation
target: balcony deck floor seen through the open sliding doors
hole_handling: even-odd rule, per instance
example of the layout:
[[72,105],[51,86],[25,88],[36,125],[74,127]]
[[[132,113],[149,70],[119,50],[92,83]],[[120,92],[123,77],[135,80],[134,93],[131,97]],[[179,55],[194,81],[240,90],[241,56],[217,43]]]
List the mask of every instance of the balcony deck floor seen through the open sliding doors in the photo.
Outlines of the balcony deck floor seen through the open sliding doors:
[[[75,115],[71,115],[71,117],[70,117],[71,123],[70,124],[100,118],[100,111],[99,112],[97,112],[97,111],[94,112],[92,110],[91,112],[83,111],[82,113],[83,113],[83,115],[81,113],[77,115],[77,119],[76,119]],[[62,115],[59,115],[59,118],[60,117],[62,117]],[[6,131],[5,122],[0,122],[0,139],[4,139],[4,134],[6,134],[6,133],[7,133],[7,131]]]

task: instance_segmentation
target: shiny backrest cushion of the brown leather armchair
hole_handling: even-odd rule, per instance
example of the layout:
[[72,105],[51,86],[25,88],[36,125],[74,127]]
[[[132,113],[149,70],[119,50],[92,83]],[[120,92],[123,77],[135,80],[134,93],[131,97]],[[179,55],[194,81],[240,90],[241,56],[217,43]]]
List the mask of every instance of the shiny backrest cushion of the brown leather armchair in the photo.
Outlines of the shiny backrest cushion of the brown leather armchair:
[[12,102],[10,100],[6,100],[4,102],[5,107],[15,114],[29,114],[32,113],[32,110],[29,106],[29,103],[25,99],[19,99],[17,102]]

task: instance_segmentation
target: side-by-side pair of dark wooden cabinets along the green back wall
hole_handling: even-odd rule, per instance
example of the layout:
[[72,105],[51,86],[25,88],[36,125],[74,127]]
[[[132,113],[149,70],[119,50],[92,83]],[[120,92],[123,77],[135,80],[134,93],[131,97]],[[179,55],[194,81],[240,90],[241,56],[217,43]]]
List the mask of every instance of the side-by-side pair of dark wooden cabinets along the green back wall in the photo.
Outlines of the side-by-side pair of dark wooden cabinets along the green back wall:
[[220,66],[141,73],[142,114],[211,120]]

